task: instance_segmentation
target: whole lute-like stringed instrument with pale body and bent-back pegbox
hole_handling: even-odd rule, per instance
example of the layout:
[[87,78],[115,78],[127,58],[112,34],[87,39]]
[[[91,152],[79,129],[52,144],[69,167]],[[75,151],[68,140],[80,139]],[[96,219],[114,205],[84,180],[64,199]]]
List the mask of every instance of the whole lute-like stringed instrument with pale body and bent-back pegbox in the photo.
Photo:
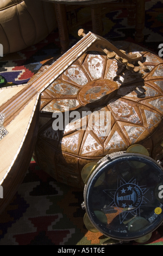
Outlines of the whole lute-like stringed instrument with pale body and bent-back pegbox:
[[128,56],[91,32],[85,35],[80,30],[79,35],[83,38],[76,45],[26,86],[0,89],[0,185],[3,187],[0,213],[16,193],[32,158],[43,90],[87,50],[103,51],[108,58],[116,57],[128,69],[139,71],[134,65],[142,60],[141,54]]

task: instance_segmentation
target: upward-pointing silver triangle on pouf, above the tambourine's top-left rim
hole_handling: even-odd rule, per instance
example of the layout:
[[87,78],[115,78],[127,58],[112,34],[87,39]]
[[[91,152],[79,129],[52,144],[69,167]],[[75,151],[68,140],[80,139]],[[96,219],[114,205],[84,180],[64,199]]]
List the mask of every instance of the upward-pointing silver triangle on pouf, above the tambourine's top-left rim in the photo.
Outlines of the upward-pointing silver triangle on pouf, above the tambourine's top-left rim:
[[124,143],[121,136],[117,133],[117,131],[112,135],[108,145],[106,145],[105,149],[124,149],[126,148],[126,144]]

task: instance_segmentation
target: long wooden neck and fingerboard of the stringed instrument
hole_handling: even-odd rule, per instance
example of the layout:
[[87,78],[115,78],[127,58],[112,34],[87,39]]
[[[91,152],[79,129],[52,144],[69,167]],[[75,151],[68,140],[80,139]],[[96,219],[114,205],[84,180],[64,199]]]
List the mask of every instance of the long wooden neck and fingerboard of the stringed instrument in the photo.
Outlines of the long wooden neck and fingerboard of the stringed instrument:
[[7,127],[17,113],[23,109],[36,94],[41,94],[49,84],[57,79],[73,62],[75,62],[98,39],[89,32],[76,45],[63,54],[49,68],[42,72],[32,82],[28,83],[21,92],[9,99],[0,107],[0,114],[5,116],[4,126]]

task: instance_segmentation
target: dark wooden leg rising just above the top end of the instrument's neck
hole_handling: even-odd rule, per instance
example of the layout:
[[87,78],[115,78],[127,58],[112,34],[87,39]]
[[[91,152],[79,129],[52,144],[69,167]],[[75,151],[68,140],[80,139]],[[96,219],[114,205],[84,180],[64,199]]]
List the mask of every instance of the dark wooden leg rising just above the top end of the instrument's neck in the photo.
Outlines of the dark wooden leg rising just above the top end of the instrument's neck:
[[92,30],[97,35],[103,33],[101,4],[91,4]]

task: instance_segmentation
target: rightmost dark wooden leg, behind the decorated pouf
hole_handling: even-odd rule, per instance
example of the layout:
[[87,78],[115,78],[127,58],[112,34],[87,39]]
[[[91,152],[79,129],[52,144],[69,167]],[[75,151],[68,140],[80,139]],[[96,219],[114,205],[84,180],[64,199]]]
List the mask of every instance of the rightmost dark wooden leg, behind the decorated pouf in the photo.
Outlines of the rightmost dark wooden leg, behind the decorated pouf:
[[144,39],[143,28],[145,27],[145,0],[136,0],[136,33],[135,41],[142,42]]

